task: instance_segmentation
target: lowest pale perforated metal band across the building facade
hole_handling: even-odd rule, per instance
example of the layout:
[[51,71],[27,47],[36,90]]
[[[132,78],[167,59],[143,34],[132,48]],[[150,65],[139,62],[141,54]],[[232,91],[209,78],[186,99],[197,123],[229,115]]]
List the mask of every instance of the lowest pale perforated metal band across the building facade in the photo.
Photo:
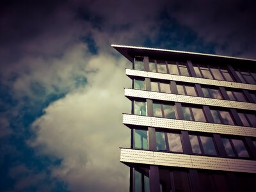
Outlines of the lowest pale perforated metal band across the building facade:
[[121,148],[120,161],[205,170],[256,173],[256,161]]

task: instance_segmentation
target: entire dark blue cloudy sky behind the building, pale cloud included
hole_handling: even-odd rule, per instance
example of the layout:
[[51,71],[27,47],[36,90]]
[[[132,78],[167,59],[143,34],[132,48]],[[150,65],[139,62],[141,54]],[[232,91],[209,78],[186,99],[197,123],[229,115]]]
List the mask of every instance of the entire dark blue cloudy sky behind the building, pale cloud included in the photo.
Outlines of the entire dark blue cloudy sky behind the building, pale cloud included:
[[129,191],[111,44],[255,60],[255,20],[253,1],[1,1],[0,191]]

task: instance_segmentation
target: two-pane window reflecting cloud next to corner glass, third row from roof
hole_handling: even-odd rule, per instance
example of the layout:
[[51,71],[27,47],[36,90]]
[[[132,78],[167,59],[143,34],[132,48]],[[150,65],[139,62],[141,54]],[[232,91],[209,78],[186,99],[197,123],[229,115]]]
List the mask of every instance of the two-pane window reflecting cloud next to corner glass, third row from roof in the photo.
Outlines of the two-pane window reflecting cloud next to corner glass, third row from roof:
[[153,113],[154,113],[154,116],[158,116],[158,117],[176,118],[174,105],[172,104],[153,103]]

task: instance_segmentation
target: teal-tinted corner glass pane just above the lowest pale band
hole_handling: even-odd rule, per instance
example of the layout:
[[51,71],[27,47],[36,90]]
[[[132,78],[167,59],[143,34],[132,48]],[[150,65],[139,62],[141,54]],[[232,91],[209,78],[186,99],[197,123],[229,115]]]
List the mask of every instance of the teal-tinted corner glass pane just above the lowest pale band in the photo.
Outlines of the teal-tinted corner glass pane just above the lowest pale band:
[[146,130],[134,129],[134,147],[148,149],[148,136]]

